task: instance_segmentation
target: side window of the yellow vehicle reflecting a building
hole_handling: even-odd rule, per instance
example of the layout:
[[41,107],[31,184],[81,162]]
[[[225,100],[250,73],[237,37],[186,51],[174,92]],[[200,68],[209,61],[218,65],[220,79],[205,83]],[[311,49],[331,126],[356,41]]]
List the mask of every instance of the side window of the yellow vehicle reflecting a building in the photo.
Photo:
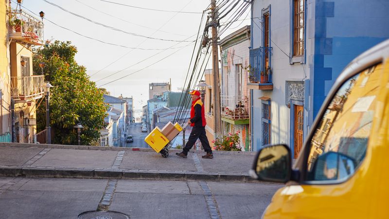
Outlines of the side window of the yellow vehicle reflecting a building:
[[382,64],[358,73],[337,91],[311,140],[308,181],[345,180],[363,161],[376,108]]

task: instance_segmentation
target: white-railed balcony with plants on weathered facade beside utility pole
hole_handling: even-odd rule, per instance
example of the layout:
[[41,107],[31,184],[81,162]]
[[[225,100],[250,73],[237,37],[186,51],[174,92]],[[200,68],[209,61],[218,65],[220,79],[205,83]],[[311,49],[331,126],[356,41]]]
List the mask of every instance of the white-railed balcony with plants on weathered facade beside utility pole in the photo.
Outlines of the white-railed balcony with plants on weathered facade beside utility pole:
[[248,97],[221,95],[222,121],[233,125],[249,124]]

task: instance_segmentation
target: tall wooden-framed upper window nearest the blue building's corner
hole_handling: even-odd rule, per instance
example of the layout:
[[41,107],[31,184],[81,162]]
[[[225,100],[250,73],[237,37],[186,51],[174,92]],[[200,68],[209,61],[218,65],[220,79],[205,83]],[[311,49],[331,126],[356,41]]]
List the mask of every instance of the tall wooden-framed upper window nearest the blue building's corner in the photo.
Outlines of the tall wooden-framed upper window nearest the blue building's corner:
[[305,0],[294,0],[293,56],[304,55],[304,1]]

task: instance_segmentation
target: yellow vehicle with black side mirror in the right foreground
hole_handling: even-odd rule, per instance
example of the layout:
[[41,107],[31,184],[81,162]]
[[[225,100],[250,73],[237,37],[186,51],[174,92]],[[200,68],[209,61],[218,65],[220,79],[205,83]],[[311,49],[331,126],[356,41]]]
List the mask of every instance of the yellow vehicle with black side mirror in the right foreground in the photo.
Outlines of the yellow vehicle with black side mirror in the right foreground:
[[389,218],[389,40],[343,70],[291,158],[286,145],[257,154],[251,177],[286,183],[262,218]]

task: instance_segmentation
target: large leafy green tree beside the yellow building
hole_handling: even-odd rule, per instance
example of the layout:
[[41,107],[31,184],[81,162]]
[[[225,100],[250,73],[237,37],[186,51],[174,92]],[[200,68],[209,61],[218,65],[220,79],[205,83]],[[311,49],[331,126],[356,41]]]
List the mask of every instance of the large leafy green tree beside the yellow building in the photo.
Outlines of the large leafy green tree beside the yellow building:
[[[34,72],[40,73],[39,63],[44,62],[45,80],[54,87],[50,90],[50,126],[53,130],[52,143],[77,144],[77,131],[73,128],[81,123],[81,142],[90,145],[100,138],[100,130],[105,127],[107,107],[103,91],[89,80],[86,68],[74,59],[77,48],[70,41],[53,43],[38,49],[34,55]],[[36,110],[37,129],[46,127],[46,107],[39,105]]]

